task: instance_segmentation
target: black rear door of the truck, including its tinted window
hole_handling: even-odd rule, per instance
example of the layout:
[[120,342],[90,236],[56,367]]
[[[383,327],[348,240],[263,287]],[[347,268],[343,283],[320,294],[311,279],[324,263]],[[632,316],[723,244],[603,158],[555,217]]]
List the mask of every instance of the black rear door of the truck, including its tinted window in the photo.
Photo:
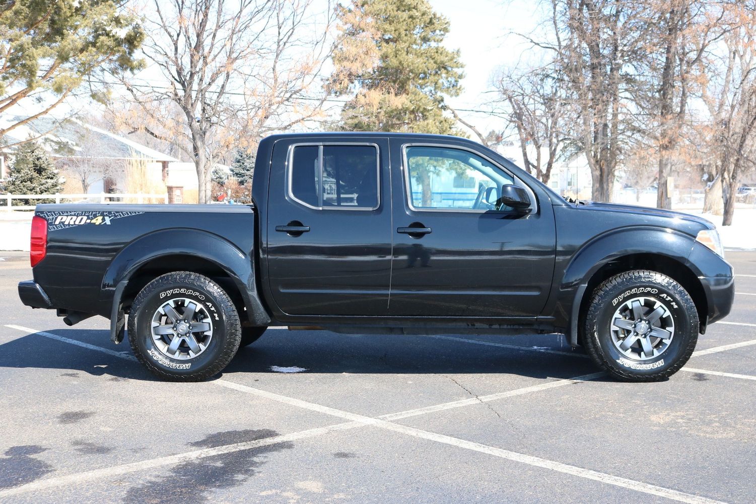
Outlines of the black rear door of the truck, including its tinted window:
[[277,306],[291,315],[386,315],[386,138],[287,137],[276,142],[271,161],[267,258]]

